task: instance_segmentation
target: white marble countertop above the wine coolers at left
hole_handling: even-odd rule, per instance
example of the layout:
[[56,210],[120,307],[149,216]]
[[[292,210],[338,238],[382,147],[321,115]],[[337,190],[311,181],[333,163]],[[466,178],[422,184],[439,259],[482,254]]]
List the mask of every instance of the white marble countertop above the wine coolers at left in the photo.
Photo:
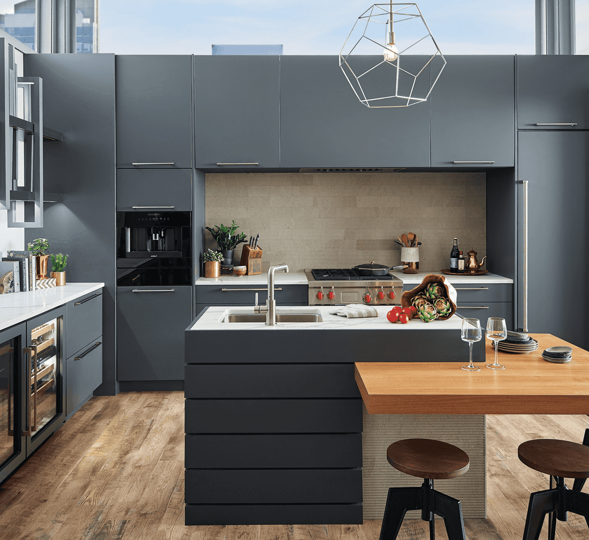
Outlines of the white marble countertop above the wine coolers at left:
[[0,330],[63,306],[102,287],[104,283],[68,283],[51,289],[0,294]]

